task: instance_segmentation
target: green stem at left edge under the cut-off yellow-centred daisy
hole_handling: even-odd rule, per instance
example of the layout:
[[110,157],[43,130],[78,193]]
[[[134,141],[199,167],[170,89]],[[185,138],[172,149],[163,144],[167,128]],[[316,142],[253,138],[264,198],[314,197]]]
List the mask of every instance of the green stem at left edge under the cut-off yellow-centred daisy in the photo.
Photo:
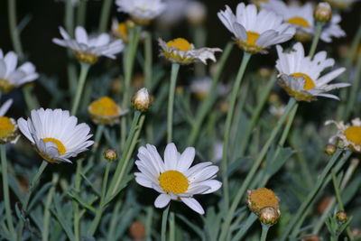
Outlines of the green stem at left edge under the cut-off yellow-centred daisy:
[[3,175],[3,192],[4,192],[6,222],[12,238],[15,238],[16,233],[14,228],[12,209],[10,206],[9,182],[8,182],[9,179],[7,176],[7,160],[6,160],[5,144],[0,144],[0,150],[1,150],[1,171]]

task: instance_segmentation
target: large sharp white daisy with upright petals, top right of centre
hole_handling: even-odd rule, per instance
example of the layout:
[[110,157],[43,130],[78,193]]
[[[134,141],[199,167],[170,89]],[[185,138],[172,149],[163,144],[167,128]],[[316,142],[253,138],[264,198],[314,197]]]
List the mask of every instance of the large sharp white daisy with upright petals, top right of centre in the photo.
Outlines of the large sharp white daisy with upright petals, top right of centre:
[[258,12],[255,5],[238,4],[236,15],[226,5],[218,17],[235,34],[238,46],[252,53],[266,53],[272,45],[292,39],[295,32],[291,24],[282,23],[281,16],[265,9]]

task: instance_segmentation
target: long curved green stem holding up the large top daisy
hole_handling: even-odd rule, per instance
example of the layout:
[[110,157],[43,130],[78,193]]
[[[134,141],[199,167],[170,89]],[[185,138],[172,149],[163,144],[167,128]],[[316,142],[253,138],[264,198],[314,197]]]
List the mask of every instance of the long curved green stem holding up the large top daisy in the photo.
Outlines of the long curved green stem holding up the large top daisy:
[[231,133],[231,125],[232,120],[235,112],[236,107],[236,97],[239,93],[239,88],[241,87],[241,82],[243,76],[245,74],[245,67],[248,64],[248,61],[251,59],[252,54],[248,52],[244,52],[243,59],[241,65],[239,66],[238,73],[236,75],[235,84],[233,86],[231,92],[231,98],[229,100],[229,107],[227,112],[226,118],[226,127],[225,127],[225,135],[223,138],[223,150],[222,150],[222,161],[221,161],[221,168],[222,168],[222,182],[223,182],[223,193],[224,193],[224,204],[225,204],[225,211],[228,209],[229,204],[229,190],[228,190],[228,178],[227,178],[227,153],[228,153],[228,144],[230,139]]

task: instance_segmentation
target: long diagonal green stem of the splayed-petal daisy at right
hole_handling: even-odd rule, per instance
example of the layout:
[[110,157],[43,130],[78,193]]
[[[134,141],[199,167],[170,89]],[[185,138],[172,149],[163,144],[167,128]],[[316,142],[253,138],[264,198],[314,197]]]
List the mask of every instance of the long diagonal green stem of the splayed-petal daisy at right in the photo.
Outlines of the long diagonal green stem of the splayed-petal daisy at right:
[[290,100],[287,104],[287,107],[285,108],[282,116],[278,120],[277,125],[273,128],[273,131],[272,131],[270,137],[268,138],[267,142],[264,144],[264,147],[262,148],[261,153],[259,154],[258,158],[255,160],[251,170],[248,171],[248,174],[245,177],[245,181],[243,182],[241,188],[236,192],[235,199],[233,199],[232,205],[231,205],[230,209],[227,211],[227,216],[226,216],[223,226],[221,228],[222,231],[221,231],[219,240],[226,240],[229,226],[231,224],[233,214],[236,211],[236,207],[238,206],[239,202],[241,201],[243,195],[245,194],[245,190],[249,186],[250,182],[253,180],[253,178],[255,176],[255,172],[259,168],[261,162],[264,161],[264,156],[268,152],[268,149],[270,148],[271,144],[273,144],[274,138],[280,131],[282,124],[284,123],[286,117],[291,112],[294,105],[296,105],[296,100],[294,98],[290,98]]

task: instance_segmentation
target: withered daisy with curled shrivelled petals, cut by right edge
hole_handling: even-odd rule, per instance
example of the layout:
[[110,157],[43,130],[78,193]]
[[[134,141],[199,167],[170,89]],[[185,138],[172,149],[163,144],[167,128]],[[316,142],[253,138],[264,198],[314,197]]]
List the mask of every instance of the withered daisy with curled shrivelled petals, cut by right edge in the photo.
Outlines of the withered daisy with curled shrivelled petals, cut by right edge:
[[344,124],[343,121],[336,122],[329,120],[325,125],[335,124],[338,127],[338,133],[329,138],[330,143],[336,139],[341,141],[342,147],[351,149],[353,152],[361,153],[361,120],[355,118],[351,124]]

